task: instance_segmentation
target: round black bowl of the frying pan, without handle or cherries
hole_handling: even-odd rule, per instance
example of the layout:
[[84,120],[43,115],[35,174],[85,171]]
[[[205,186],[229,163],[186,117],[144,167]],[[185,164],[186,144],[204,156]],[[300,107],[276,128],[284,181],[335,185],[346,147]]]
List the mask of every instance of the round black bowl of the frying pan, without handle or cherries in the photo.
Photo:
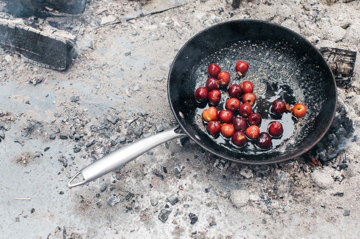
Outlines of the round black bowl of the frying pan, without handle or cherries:
[[[238,78],[234,69],[239,60],[249,64],[242,78]],[[230,73],[230,84],[252,81],[258,97],[253,109],[263,117],[261,132],[266,132],[271,121],[283,123],[284,135],[272,141],[272,149],[255,149],[249,140],[239,148],[222,136],[214,140],[208,135],[201,113],[209,105],[197,103],[194,92],[205,86],[211,63]],[[221,92],[218,110],[229,98],[226,90]],[[217,24],[190,39],[171,66],[168,97],[176,120],[192,140],[221,158],[247,164],[276,163],[306,153],[329,129],[337,102],[332,72],[311,43],[289,29],[256,20]],[[269,110],[275,99],[305,104],[306,116],[301,119],[290,113],[280,118],[271,116]]]

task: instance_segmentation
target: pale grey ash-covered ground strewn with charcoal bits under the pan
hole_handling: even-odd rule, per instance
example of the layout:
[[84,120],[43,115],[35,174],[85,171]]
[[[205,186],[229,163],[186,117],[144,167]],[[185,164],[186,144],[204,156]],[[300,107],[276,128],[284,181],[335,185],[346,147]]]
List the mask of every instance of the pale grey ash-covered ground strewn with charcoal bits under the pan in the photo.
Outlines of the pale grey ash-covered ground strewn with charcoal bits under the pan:
[[[323,141],[332,150],[329,142],[345,146],[323,166],[300,157],[248,167],[189,140],[173,140],[95,182],[67,187],[69,177],[105,153],[176,125],[167,100],[168,70],[181,46],[206,27],[261,19],[317,46],[360,49],[359,1],[242,1],[234,10],[229,0],[187,0],[121,20],[148,4],[92,0],[84,14],[61,24],[23,19],[77,37],[81,54],[67,71],[23,63],[1,50],[2,237],[358,238],[359,61],[352,82],[338,88],[338,125],[332,129],[335,137],[348,135],[339,127],[354,128],[354,135]],[[114,18],[121,23],[107,25]]]

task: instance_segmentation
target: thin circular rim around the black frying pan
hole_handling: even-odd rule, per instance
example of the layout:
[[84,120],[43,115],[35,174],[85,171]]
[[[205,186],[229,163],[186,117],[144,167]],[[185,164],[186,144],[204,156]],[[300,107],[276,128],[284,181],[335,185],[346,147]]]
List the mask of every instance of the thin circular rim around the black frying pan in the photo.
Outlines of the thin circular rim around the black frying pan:
[[331,73],[331,76],[332,76],[332,79],[333,79],[333,86],[335,87],[335,107],[333,109],[333,113],[332,113],[332,117],[328,123],[328,125],[326,126],[325,130],[323,131],[323,133],[320,135],[320,137],[318,137],[317,140],[315,140],[311,145],[307,146],[304,150],[302,151],[299,151],[295,154],[292,154],[292,155],[289,155],[288,157],[286,158],[283,158],[283,159],[280,159],[280,160],[236,160],[236,159],[233,159],[229,156],[226,156],[226,155],[223,155],[223,154],[220,154],[208,147],[206,147],[206,144],[201,144],[200,142],[198,142],[198,139],[195,139],[194,137],[192,137],[190,135],[190,133],[185,129],[185,127],[183,126],[183,124],[181,123],[179,117],[177,116],[177,112],[175,112],[174,110],[174,107],[172,106],[172,103],[171,103],[171,97],[170,97],[170,75],[171,75],[171,72],[172,72],[172,69],[175,65],[175,62],[177,60],[177,58],[179,57],[180,53],[188,46],[189,42],[192,41],[195,37],[199,36],[200,34],[202,34],[203,32],[207,31],[208,29],[210,28],[213,28],[213,27],[217,27],[219,25],[222,25],[222,24],[228,24],[230,22],[253,22],[253,23],[262,23],[262,24],[265,24],[265,25],[270,25],[270,26],[273,26],[273,27],[278,27],[280,29],[282,29],[283,31],[287,31],[287,32],[290,32],[292,34],[294,34],[297,38],[300,38],[302,39],[303,41],[305,41],[309,47],[311,47],[313,50],[315,50],[319,55],[321,55],[321,53],[319,52],[318,49],[316,49],[315,46],[313,46],[311,44],[311,42],[309,42],[305,37],[301,36],[299,33],[297,32],[294,32],[292,31],[291,29],[288,29],[286,27],[283,27],[281,25],[278,25],[278,24],[275,24],[275,23],[270,23],[270,22],[265,22],[265,21],[262,21],[262,20],[253,20],[253,19],[238,19],[238,20],[230,20],[230,21],[226,21],[226,22],[223,22],[223,23],[218,23],[218,24],[215,24],[215,25],[212,25],[211,27],[207,27],[205,29],[203,29],[202,31],[198,32],[197,34],[195,34],[193,37],[191,37],[181,48],[180,50],[177,52],[176,56],[174,57],[174,60],[172,61],[172,64],[170,66],[170,70],[169,70],[169,74],[168,74],[168,78],[167,78],[167,97],[168,97],[168,101],[169,101],[169,104],[170,104],[170,108],[171,108],[171,111],[172,111],[172,114],[174,114],[174,117],[177,121],[177,123],[179,123],[180,127],[181,127],[181,130],[186,133],[186,135],[188,135],[188,137],[190,139],[192,139],[196,144],[198,144],[200,147],[202,147],[203,149],[205,149],[206,151],[212,153],[212,154],[215,154],[216,156],[219,156],[220,158],[223,158],[223,159],[226,159],[226,160],[229,160],[229,161],[233,161],[233,162],[236,162],[236,163],[242,163],[242,164],[248,164],[248,165],[267,165],[267,164],[276,164],[276,163],[281,163],[281,162],[285,162],[285,161],[289,161],[291,159],[294,159],[298,156],[301,156],[303,154],[305,154],[307,151],[309,151],[310,149],[312,149],[316,144],[318,144],[320,142],[321,139],[323,139],[323,137],[325,136],[325,134],[328,132],[328,130],[330,129],[331,125],[332,125],[332,122],[334,120],[334,117],[335,117],[335,113],[336,113],[336,110],[337,110],[337,86],[336,86],[336,81],[335,81],[335,77],[334,77],[334,74],[333,72],[331,71],[330,69],[330,66],[327,64],[327,62],[325,61],[324,57],[321,55],[321,59],[322,59],[322,63],[326,65],[326,69]]

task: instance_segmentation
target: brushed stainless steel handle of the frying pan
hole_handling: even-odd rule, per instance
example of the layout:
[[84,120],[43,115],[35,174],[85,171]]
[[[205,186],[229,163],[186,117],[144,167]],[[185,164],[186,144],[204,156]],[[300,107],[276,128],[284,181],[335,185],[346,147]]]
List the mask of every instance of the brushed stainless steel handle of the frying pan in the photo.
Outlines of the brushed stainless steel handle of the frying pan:
[[[77,172],[70,179],[68,186],[75,187],[91,182],[96,178],[99,178],[107,173],[112,172],[117,168],[120,168],[121,166],[129,163],[131,160],[138,158],[140,155],[146,153],[147,151],[153,149],[158,145],[161,145],[173,139],[187,137],[187,135],[184,133],[175,132],[178,127],[138,140],[134,143],[121,147],[110,154],[103,156],[102,158],[96,160],[95,162],[91,163],[90,165]],[[71,184],[71,182],[80,173],[82,174],[84,181]]]

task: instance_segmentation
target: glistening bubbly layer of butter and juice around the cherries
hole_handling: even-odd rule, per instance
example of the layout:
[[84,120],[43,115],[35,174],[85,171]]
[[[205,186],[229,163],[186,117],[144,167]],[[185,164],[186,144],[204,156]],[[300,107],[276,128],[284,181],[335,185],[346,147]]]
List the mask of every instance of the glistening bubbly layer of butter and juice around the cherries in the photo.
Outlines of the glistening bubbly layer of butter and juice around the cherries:
[[[239,78],[235,71],[235,64],[238,60],[246,61],[249,64],[249,70],[242,78]],[[222,71],[230,73],[230,84],[239,84],[245,80],[254,83],[254,93],[258,98],[256,106],[253,107],[253,112],[260,113],[263,118],[260,132],[267,132],[268,125],[275,120],[282,123],[284,127],[283,136],[280,139],[273,139],[273,147],[269,150],[259,149],[253,140],[247,140],[245,146],[237,147],[230,139],[225,139],[221,134],[216,139],[213,139],[212,136],[209,137],[228,150],[244,154],[260,154],[272,150],[284,151],[287,145],[291,145],[288,142],[306,137],[307,131],[301,134],[299,132],[303,124],[302,121],[309,121],[317,114],[316,111],[310,110],[311,107],[309,107],[306,116],[301,119],[296,119],[291,113],[284,113],[282,116],[270,113],[271,104],[275,99],[281,99],[293,105],[304,102],[305,97],[303,89],[299,86],[299,81],[306,81],[309,76],[302,72],[302,59],[299,61],[294,61],[291,50],[283,42],[272,44],[272,42],[239,41],[225,46],[195,65],[190,71],[190,76],[196,81],[194,92],[198,87],[205,85],[208,78],[207,66],[211,63],[219,64]],[[220,105],[216,107],[218,111],[225,109],[225,102],[229,99],[227,88],[220,89],[222,99]],[[197,108],[195,109],[194,121],[204,133],[208,134],[205,128],[206,122],[202,120],[201,114],[204,109],[212,105],[207,102],[195,103],[195,105]],[[314,113],[312,114],[312,112]],[[238,111],[234,112],[234,116],[240,116]],[[311,128],[309,129],[311,130]]]

